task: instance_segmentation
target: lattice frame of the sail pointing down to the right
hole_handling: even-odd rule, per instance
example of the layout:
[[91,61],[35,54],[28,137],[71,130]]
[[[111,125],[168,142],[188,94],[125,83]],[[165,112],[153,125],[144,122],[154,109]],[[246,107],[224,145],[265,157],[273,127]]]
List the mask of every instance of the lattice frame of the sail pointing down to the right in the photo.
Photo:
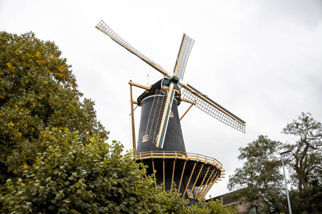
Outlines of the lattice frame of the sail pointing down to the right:
[[[208,96],[202,94],[203,97],[208,98]],[[202,111],[206,112],[208,115],[214,117],[215,119],[219,120],[220,122],[223,122],[226,125],[229,125],[230,127],[237,129],[238,131],[241,131],[245,133],[245,125],[241,124],[238,120],[234,119],[233,117],[227,115],[225,112],[220,110],[219,108],[213,106],[206,100],[196,96],[192,92],[181,89],[181,96],[190,101],[196,100],[196,104],[194,106],[198,107]],[[208,98],[210,99],[210,98]]]

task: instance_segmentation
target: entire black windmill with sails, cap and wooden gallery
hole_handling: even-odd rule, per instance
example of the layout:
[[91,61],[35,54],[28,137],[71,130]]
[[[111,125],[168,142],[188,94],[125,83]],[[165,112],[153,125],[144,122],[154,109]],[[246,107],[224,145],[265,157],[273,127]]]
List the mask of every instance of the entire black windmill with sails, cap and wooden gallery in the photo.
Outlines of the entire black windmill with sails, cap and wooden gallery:
[[[178,193],[182,193],[182,196],[189,199],[190,203],[198,203],[198,200],[205,197],[213,184],[224,177],[225,170],[223,165],[215,158],[186,152],[180,120],[192,106],[195,106],[243,133],[245,133],[246,122],[193,86],[182,82],[190,51],[194,44],[194,40],[186,34],[183,35],[181,41],[174,71],[168,73],[160,65],[119,37],[103,21],[100,21],[96,28],[163,74],[163,79],[157,81],[151,87],[129,82],[132,141],[135,156],[137,161],[149,166],[147,173],[152,174],[156,170],[154,175],[156,178],[155,185],[163,184],[165,191],[172,189],[173,183],[175,183]],[[132,86],[144,89],[137,101],[132,98]],[[179,118],[178,106],[182,101],[191,105]],[[137,146],[133,104],[141,107]]]

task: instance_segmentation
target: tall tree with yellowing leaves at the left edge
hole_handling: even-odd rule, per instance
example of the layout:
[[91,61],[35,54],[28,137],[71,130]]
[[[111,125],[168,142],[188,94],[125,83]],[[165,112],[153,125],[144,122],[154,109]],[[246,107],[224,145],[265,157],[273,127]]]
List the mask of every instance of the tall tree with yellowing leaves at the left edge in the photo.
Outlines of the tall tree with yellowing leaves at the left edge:
[[[107,137],[97,121],[94,102],[77,90],[75,76],[59,48],[29,32],[0,32],[0,184],[33,165],[45,127],[79,130]],[[0,192],[1,192],[0,185]]]

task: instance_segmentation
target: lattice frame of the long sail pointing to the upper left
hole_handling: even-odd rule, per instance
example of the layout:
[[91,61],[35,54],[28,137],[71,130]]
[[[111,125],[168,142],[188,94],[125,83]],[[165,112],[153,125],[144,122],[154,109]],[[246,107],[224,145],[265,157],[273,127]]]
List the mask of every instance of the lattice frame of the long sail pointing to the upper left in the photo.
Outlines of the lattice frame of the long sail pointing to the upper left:
[[[104,33],[107,33],[108,36],[114,40],[115,42],[117,42],[119,45],[125,47],[126,49],[130,49],[133,52],[135,52],[139,57],[144,58],[145,60],[147,60],[148,62],[155,64],[156,66],[161,67],[161,65],[155,63],[154,61],[152,61],[151,59],[147,58],[147,56],[143,55],[141,52],[139,52],[137,49],[135,49],[133,46],[131,46],[130,44],[128,44],[124,39],[122,39],[120,36],[118,36],[117,33],[115,33],[112,29],[110,29],[110,27],[105,24],[104,21],[100,21],[97,25],[97,27],[99,27],[100,29],[104,30]],[[121,42],[121,43],[120,43]]]

